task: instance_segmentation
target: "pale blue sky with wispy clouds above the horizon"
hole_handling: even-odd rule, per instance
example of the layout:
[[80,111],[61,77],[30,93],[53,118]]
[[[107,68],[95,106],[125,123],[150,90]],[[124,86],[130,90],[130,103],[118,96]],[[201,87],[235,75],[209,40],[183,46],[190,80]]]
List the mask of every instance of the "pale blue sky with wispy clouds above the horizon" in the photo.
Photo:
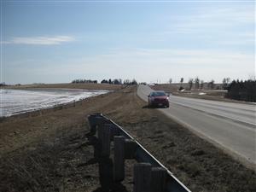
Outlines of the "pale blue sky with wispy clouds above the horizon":
[[1,82],[255,77],[254,1],[1,0]]

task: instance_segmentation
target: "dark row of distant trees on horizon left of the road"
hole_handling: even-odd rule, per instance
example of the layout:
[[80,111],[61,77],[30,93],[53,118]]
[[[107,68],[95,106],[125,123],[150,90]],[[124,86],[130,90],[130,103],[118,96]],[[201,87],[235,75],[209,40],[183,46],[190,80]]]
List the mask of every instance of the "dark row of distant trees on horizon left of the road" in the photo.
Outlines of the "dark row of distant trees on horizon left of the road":
[[[97,84],[97,80],[90,80],[90,79],[74,79],[72,84]],[[122,79],[103,79],[101,81],[101,84],[137,84],[136,79],[125,79],[122,81]]]

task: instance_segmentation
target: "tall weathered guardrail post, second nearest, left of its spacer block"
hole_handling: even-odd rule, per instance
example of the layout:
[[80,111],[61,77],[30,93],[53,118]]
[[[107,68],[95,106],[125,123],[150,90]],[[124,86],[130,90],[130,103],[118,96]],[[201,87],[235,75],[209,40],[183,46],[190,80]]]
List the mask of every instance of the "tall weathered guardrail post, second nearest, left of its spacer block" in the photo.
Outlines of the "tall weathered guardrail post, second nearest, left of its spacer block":
[[125,137],[113,137],[113,181],[121,182],[125,178]]

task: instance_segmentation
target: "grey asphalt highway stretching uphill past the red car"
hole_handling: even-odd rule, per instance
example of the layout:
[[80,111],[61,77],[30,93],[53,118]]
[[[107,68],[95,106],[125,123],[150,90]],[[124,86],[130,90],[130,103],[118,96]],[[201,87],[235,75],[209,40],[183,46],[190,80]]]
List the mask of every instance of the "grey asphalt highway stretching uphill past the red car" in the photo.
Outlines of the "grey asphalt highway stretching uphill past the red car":
[[[148,102],[152,89],[139,85],[137,95]],[[256,105],[170,96],[162,113],[200,137],[224,148],[238,160],[256,165]]]

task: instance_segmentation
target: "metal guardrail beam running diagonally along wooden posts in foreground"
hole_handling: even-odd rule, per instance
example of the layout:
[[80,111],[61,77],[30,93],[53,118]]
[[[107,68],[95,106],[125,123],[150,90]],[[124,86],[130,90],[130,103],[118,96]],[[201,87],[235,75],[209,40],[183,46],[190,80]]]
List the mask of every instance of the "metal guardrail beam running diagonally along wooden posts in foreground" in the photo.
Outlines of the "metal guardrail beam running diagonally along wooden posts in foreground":
[[181,183],[166,166],[163,166],[152,154],[150,154],[143,146],[138,143],[131,135],[129,135],[121,126],[117,125],[113,120],[108,119],[102,113],[95,113],[88,116],[90,123],[90,131],[96,132],[96,126],[108,124],[115,132],[115,135],[123,136],[126,139],[133,140],[137,144],[135,151],[135,159],[138,162],[149,163],[153,167],[161,167],[166,170],[166,191],[168,192],[191,192],[183,183]]

